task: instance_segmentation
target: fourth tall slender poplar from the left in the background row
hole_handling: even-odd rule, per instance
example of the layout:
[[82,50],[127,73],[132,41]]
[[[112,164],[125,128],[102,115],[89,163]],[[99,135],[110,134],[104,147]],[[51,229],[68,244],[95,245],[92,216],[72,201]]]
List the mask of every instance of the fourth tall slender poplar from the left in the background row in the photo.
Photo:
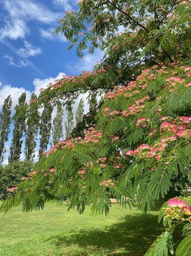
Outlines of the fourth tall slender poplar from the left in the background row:
[[51,133],[51,114],[52,108],[49,103],[44,103],[44,109],[41,114],[40,120],[40,149],[39,157],[42,156],[42,153],[47,150],[50,133]]

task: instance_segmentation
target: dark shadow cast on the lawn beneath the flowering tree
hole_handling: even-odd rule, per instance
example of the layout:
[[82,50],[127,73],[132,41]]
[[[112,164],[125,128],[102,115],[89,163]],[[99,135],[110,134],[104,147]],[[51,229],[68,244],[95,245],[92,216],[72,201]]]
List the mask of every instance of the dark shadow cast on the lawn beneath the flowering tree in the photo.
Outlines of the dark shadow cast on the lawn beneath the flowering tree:
[[55,236],[48,241],[67,250],[72,246],[81,248],[67,255],[131,255],[143,256],[148,247],[164,230],[157,223],[157,216],[147,214],[127,215],[119,223],[103,230],[80,230],[70,237]]

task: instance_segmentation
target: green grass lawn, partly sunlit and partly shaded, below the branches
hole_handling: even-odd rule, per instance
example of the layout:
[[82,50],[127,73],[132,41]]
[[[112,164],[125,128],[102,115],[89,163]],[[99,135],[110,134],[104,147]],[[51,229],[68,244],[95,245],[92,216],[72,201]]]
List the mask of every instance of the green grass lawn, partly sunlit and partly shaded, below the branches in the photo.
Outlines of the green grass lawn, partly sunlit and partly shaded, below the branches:
[[90,207],[81,216],[56,203],[32,213],[14,208],[0,214],[0,256],[144,255],[163,231],[157,215],[116,204],[107,217],[92,216]]

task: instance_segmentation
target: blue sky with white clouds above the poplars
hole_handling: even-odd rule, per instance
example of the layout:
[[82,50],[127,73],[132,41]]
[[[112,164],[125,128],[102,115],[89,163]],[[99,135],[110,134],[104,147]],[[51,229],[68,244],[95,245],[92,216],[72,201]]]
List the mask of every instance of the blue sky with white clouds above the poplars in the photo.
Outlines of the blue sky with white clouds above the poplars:
[[[77,9],[78,0],[0,0],[0,109],[12,96],[14,109],[26,91],[38,94],[41,87],[63,74],[91,70],[102,53],[85,53],[78,59],[64,36],[52,36],[66,10]],[[85,99],[85,97],[84,97]],[[11,139],[11,135],[10,135]],[[7,149],[10,141],[7,143]]]

